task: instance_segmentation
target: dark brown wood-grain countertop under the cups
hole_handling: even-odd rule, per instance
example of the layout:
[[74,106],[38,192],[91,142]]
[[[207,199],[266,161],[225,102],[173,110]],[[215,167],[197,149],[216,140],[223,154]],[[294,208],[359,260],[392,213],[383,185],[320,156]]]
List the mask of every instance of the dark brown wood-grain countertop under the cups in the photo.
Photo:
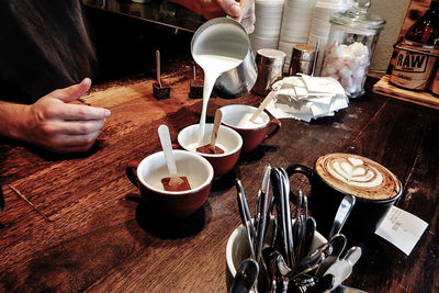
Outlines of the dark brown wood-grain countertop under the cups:
[[[195,214],[172,221],[150,211],[125,176],[128,160],[159,150],[157,127],[171,138],[198,123],[201,100],[188,99],[191,66],[165,76],[171,98],[153,98],[154,80],[139,78],[95,88],[83,103],[111,109],[98,144],[87,154],[53,155],[0,140],[0,292],[226,292],[225,247],[240,224],[235,178],[255,206],[263,167],[313,166],[335,151],[369,157],[403,182],[396,203],[429,226],[410,256],[379,237],[365,244],[347,284],[369,292],[438,292],[439,113],[368,91],[334,117],[312,123],[282,120],[279,134],[241,156],[234,171],[215,180]],[[373,80],[375,82],[376,80]],[[368,89],[371,89],[369,82]],[[213,98],[222,105],[259,105],[251,93]],[[307,190],[293,178],[293,191]],[[12,184],[52,222],[9,187]]]

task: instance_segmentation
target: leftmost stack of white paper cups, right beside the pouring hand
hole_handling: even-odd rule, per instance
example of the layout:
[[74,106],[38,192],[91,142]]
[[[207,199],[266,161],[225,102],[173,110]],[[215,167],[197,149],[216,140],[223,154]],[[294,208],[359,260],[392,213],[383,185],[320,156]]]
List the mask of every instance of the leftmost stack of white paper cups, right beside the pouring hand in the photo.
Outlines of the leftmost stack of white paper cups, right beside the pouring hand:
[[255,32],[250,35],[251,48],[278,48],[284,0],[255,1]]

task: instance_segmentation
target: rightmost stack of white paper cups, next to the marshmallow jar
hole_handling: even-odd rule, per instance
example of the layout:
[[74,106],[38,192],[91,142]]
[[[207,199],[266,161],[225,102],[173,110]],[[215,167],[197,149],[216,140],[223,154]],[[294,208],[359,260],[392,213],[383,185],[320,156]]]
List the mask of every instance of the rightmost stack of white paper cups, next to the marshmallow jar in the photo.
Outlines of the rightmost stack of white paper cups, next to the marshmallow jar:
[[323,53],[328,43],[330,31],[330,15],[335,12],[345,12],[353,5],[352,0],[317,0],[314,5],[311,19],[309,36],[307,44],[315,46],[317,38],[319,40],[319,54],[317,58],[315,76],[319,76],[323,64]]

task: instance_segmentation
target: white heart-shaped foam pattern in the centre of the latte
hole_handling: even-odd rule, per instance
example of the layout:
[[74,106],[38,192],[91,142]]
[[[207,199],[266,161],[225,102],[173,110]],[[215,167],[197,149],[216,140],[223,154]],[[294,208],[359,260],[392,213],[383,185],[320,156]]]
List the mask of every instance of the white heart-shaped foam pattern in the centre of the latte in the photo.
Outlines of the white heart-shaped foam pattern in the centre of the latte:
[[[353,164],[352,164],[353,161]],[[356,158],[341,158],[334,160],[328,166],[328,172],[335,178],[356,187],[378,187],[383,182],[383,177],[375,168]]]

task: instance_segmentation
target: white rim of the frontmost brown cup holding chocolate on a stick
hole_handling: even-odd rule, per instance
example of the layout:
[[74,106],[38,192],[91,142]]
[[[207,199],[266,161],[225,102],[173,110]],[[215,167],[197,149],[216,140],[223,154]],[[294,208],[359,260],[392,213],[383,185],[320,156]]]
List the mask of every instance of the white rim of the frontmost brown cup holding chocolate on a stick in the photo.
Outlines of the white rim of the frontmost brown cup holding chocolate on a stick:
[[144,177],[142,176],[142,169],[144,168],[144,166],[146,164],[148,164],[148,161],[150,161],[151,159],[155,159],[156,157],[164,157],[164,160],[165,160],[165,154],[161,150],[161,151],[157,151],[157,153],[154,153],[154,154],[145,157],[137,166],[136,176],[137,176],[137,179],[139,180],[139,182],[144,187],[146,187],[147,189],[149,189],[149,190],[151,190],[154,192],[166,194],[166,195],[181,195],[181,194],[189,194],[189,193],[199,192],[201,189],[205,188],[206,185],[209,185],[212,182],[213,174],[214,174],[213,167],[205,158],[203,158],[202,156],[200,156],[196,153],[192,153],[192,151],[188,151],[188,150],[173,149],[172,151],[173,151],[175,155],[176,154],[183,154],[184,156],[192,157],[192,158],[199,160],[203,166],[205,166],[206,170],[207,170],[206,180],[204,180],[203,183],[200,184],[199,187],[196,187],[194,189],[190,189],[190,190],[184,190],[184,191],[167,191],[167,190],[157,189],[157,188],[153,187],[151,184],[148,184],[145,181]]

